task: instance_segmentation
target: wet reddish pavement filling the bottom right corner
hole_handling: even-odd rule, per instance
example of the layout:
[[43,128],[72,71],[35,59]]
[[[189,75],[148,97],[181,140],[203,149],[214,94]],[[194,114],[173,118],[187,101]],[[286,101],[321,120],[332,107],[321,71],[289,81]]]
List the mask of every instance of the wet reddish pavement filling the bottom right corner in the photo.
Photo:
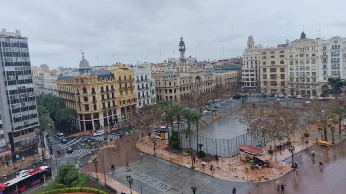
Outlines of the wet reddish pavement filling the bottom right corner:
[[[292,171],[278,179],[280,183],[286,185],[285,193],[345,193],[345,146],[345,140],[330,148],[314,145],[295,155],[293,159],[298,162],[298,171]],[[316,152],[315,159],[311,157],[312,151]],[[286,160],[286,162],[291,161],[291,158]],[[319,167],[319,161],[323,162],[323,168]],[[275,181],[253,185],[250,191],[245,193],[277,193]]]

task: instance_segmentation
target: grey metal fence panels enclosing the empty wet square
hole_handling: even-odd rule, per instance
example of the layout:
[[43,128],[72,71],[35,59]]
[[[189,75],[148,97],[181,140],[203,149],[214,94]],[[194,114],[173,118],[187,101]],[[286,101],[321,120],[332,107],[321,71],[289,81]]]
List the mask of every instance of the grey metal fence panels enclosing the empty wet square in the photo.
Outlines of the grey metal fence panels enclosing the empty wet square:
[[[280,107],[290,107],[290,108],[309,108],[311,106],[311,102],[306,99],[297,99],[297,98],[273,98],[273,97],[248,97],[248,98],[240,98],[234,100],[224,106],[220,106],[217,108],[217,115],[219,114],[228,114],[233,111],[238,110],[242,106],[252,106],[255,105],[274,105]],[[300,122],[302,124],[308,124],[318,119],[318,114],[314,114],[313,111],[307,111],[301,114]],[[207,123],[210,123],[213,119],[210,111],[204,114],[203,120]],[[215,121],[217,122],[217,120]],[[203,124],[203,123],[202,123]],[[180,130],[186,129],[188,126],[186,124],[186,120],[181,119],[180,121]],[[195,125],[191,124],[191,130],[194,130]],[[178,130],[178,124],[175,123],[173,125],[174,130]],[[231,126],[230,126],[231,130]],[[230,131],[231,133],[231,131]],[[191,134],[186,140],[185,134],[180,134],[181,136],[181,144],[184,148],[192,148],[197,150],[197,138],[198,143],[203,144],[202,151],[211,155],[218,155],[222,157],[232,157],[236,154],[239,154],[239,145],[252,145],[258,146],[259,143],[255,140],[250,134],[244,131],[244,134],[235,136],[230,139],[219,139],[206,137],[196,134]]]

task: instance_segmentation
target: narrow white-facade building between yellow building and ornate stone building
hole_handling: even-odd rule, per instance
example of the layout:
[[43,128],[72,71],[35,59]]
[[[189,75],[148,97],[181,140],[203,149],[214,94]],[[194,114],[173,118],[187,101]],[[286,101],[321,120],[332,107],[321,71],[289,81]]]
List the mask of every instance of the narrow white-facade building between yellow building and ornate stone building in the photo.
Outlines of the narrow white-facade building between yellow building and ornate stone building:
[[136,93],[138,95],[137,108],[156,104],[155,82],[151,75],[151,67],[146,69],[137,68],[134,69],[134,72]]

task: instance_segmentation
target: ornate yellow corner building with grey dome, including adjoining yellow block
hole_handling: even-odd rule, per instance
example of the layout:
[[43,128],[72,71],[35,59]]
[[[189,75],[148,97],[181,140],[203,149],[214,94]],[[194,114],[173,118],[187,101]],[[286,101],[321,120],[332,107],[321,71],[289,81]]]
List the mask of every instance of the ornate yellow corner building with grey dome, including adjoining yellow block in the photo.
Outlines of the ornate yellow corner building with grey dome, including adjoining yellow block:
[[75,128],[103,128],[129,118],[131,110],[135,109],[137,97],[133,70],[126,65],[108,69],[91,70],[83,56],[79,71],[58,77],[58,96],[67,107],[77,111],[77,117],[73,120]]

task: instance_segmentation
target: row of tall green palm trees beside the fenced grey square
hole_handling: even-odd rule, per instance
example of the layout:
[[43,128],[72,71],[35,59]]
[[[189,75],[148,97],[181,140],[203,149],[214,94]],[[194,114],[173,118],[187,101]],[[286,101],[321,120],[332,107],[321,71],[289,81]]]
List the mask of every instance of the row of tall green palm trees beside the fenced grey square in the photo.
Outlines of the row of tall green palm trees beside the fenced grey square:
[[[197,112],[197,111],[192,111],[189,108],[186,108],[185,106],[181,104],[175,104],[173,103],[172,100],[170,99],[165,99],[162,101],[159,101],[156,105],[157,110],[161,110],[164,112],[163,115],[163,120],[166,122],[167,128],[170,126],[172,131],[174,130],[174,122],[177,123],[177,129],[179,133],[185,134],[186,138],[186,146],[188,146],[188,138],[190,139],[190,148],[192,149],[191,146],[191,134],[193,133],[191,130],[191,125],[195,124],[196,126],[196,134],[198,137],[198,129],[201,126],[201,123],[204,122],[202,120],[203,114]],[[188,127],[186,129],[180,130],[180,122],[181,119],[186,120],[186,124]],[[204,122],[205,123],[205,122]],[[168,130],[168,139],[170,138],[169,130]],[[179,136],[180,138],[180,136]],[[181,142],[181,140],[180,140]],[[198,153],[198,138],[197,138],[197,153]]]

